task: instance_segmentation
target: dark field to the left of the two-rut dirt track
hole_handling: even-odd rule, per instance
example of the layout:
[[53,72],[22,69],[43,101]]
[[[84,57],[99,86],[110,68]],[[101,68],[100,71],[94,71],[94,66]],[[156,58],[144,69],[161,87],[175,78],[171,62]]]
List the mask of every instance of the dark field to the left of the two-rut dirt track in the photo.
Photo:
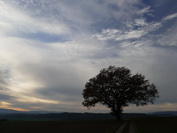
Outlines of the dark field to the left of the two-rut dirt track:
[[119,123],[103,121],[1,121],[0,133],[113,133]]

